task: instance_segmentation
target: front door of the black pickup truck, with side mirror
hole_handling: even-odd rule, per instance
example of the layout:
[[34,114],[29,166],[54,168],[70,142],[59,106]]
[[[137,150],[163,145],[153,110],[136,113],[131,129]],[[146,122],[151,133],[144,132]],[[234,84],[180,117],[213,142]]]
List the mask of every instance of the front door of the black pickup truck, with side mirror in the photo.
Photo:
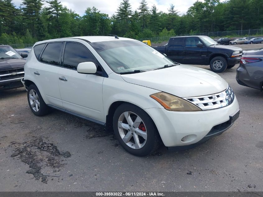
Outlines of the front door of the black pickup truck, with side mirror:
[[198,37],[187,37],[184,45],[183,63],[185,64],[206,64],[207,47],[197,47],[198,43],[202,43]]

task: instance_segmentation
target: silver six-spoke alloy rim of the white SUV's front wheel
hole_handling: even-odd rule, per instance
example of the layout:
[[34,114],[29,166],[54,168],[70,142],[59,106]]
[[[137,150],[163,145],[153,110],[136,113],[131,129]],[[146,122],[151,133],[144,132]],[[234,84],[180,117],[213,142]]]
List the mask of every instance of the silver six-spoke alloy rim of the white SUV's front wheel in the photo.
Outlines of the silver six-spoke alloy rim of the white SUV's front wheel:
[[120,115],[118,130],[120,137],[130,148],[143,148],[147,141],[147,129],[143,120],[131,111],[125,111]]

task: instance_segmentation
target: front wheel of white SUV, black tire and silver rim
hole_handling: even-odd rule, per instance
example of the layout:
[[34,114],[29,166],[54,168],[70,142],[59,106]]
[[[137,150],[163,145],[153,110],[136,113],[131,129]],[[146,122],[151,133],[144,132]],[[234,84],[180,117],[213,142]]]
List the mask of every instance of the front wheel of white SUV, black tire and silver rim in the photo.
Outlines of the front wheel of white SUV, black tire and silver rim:
[[113,129],[121,146],[130,154],[146,156],[159,148],[161,140],[153,120],[138,106],[120,105],[113,115]]

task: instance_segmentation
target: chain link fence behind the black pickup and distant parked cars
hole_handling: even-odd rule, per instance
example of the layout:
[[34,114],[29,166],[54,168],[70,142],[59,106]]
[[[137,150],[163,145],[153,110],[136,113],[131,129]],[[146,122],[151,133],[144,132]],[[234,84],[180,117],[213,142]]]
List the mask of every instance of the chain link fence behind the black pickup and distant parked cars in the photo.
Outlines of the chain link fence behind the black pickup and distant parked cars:
[[[212,38],[220,38],[220,37],[246,37],[250,35],[263,35],[263,28],[256,29],[256,30],[236,30],[236,31],[215,31],[215,32],[207,32],[207,33],[196,33],[196,34],[182,34],[182,35],[175,35],[175,36],[186,36],[186,35],[206,35]],[[155,38],[143,38],[139,39],[140,41],[143,40],[151,40],[153,43],[161,43],[164,41],[168,41],[171,36],[165,37],[155,37]]]

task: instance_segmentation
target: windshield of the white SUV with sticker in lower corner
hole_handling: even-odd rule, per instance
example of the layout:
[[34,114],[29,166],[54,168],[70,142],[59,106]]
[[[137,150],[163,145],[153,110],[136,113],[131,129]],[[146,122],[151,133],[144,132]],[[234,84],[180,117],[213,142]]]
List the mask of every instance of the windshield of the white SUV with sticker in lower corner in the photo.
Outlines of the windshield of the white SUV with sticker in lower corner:
[[137,40],[93,42],[90,45],[115,73],[150,71],[168,64],[176,64]]

